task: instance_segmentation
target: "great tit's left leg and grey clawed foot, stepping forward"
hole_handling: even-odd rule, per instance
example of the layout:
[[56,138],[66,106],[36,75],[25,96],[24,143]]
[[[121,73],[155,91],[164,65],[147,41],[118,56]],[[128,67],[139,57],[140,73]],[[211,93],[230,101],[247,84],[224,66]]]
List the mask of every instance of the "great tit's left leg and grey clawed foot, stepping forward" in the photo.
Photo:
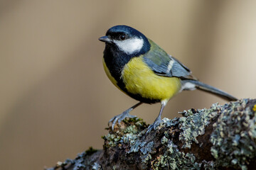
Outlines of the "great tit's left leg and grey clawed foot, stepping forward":
[[136,105],[132,106],[131,108],[128,108],[123,113],[114,116],[114,118],[110,119],[108,125],[110,125],[110,123],[112,122],[112,130],[114,130],[114,125],[115,125],[115,123],[117,123],[117,120],[118,120],[118,123],[121,123],[121,121],[124,120],[125,118],[135,118],[136,115],[130,115],[129,112],[134,110],[134,108],[137,108],[141,104],[142,104],[142,102],[139,102]]

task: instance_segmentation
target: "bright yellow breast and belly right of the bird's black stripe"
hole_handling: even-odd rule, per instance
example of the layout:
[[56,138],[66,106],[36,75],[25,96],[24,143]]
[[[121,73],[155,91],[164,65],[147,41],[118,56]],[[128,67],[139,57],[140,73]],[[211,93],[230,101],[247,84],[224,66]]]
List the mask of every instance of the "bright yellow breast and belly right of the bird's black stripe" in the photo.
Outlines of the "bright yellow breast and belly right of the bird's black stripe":
[[180,79],[154,74],[142,57],[134,57],[124,66],[122,79],[129,93],[152,100],[168,101],[181,89]]

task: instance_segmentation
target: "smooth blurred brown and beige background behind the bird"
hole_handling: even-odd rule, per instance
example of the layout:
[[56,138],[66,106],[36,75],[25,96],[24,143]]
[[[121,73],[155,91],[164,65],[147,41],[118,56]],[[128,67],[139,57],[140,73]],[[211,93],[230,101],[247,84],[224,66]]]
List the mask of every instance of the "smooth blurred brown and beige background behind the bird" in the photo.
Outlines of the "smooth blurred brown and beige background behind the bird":
[[[201,81],[256,97],[256,1],[0,1],[1,169],[43,169],[92,146],[137,101],[102,68],[111,26],[142,31]],[[173,98],[164,117],[225,103],[201,91]],[[159,104],[132,114],[152,123]]]

